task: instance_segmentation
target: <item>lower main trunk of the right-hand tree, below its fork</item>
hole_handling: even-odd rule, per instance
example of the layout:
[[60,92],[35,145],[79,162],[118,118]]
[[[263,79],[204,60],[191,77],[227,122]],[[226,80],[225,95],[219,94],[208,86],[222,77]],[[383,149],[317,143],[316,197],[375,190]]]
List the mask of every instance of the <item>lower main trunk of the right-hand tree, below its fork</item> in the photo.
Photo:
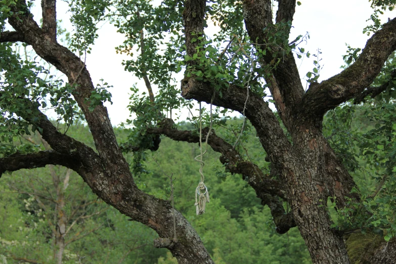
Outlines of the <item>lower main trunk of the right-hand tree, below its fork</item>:
[[[311,143],[313,141],[311,140]],[[305,141],[305,143],[309,142]],[[316,146],[320,146],[315,144]],[[311,144],[312,146],[312,144]],[[283,168],[294,221],[311,254],[313,263],[349,263],[342,236],[331,229],[323,152],[305,149]],[[297,153],[298,153],[297,152]],[[303,157],[303,158],[301,158]]]

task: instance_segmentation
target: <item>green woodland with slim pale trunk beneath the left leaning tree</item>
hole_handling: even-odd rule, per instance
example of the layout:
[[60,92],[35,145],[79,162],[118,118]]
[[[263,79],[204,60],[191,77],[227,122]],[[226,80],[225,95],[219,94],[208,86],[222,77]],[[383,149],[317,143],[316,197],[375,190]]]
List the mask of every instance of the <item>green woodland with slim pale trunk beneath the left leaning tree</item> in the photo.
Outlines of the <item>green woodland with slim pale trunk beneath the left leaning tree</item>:
[[[84,126],[70,127],[68,133],[83,142],[90,140]],[[39,135],[25,135],[23,140],[40,143]],[[42,143],[45,149],[48,145]],[[156,262],[162,252],[152,248],[154,232],[127,222],[76,176],[70,169],[49,165],[19,170],[2,180],[0,255],[7,258],[3,262]]]

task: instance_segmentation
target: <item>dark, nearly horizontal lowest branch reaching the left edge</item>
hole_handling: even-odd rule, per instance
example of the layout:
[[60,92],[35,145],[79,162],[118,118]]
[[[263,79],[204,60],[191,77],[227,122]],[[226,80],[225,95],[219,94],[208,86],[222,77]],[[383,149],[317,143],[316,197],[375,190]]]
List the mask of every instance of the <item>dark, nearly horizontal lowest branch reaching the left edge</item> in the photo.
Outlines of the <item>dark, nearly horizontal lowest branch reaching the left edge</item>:
[[0,178],[5,171],[12,172],[19,169],[45,167],[49,164],[75,169],[79,163],[76,156],[59,153],[54,150],[29,154],[15,153],[8,157],[0,158]]

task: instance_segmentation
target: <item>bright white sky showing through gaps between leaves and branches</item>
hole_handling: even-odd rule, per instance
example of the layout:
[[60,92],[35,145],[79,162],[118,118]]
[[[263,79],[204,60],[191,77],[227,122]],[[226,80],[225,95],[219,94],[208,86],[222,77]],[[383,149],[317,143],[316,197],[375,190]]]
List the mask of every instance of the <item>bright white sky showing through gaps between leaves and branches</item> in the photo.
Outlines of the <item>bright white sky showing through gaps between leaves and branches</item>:
[[[368,23],[366,20],[370,18],[373,11],[368,0],[300,0],[300,2],[302,5],[296,7],[290,39],[294,39],[299,34],[304,35],[306,31],[310,33],[311,39],[307,44],[301,43],[299,47],[310,51],[311,54],[315,54],[318,48],[321,49],[321,64],[324,65],[324,68],[319,81],[322,81],[341,71],[342,56],[346,53],[345,43],[351,47],[364,48],[369,36],[363,34],[362,31]],[[58,1],[58,19],[63,20],[62,27],[71,30],[70,15],[67,10],[67,4]],[[37,17],[41,12],[39,7],[37,7],[37,11],[34,12],[37,14],[36,20],[39,19]],[[388,17],[395,16],[396,12],[386,12],[381,19],[382,22],[385,22]],[[214,31],[215,28],[209,25],[205,33],[210,35]],[[122,43],[123,35],[117,33],[116,28],[109,23],[102,25],[98,34],[99,38],[95,41],[91,54],[87,55],[86,65],[94,84],[99,83],[99,79],[103,78],[114,86],[110,90],[113,105],[106,103],[106,106],[112,124],[118,125],[129,117],[129,112],[126,109],[129,103],[129,88],[136,82],[142,91],[146,90],[146,86],[143,80],[124,71],[121,62],[129,57],[115,53],[114,48]],[[313,60],[313,57],[305,58],[302,63],[301,60],[297,60],[301,78],[305,76],[306,72],[312,71]],[[305,80],[302,80],[302,83],[304,86],[306,85]],[[187,113],[183,113],[182,117],[186,115]]]

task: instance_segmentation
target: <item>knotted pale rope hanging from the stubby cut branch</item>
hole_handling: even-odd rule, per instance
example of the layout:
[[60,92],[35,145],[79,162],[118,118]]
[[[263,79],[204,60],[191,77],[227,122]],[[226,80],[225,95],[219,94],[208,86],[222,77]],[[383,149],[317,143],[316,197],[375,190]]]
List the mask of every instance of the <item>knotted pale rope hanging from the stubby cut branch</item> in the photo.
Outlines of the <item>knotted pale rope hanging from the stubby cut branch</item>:
[[[209,131],[206,135],[206,144],[205,144],[205,151],[202,151],[202,110],[201,110],[201,102],[199,102],[199,149],[201,150],[201,154],[196,156],[194,159],[201,163],[199,168],[199,174],[201,175],[201,181],[199,182],[197,188],[195,189],[195,206],[197,209],[197,215],[203,214],[205,212],[205,205],[209,202],[209,192],[207,187],[204,184],[205,177],[203,175],[203,166],[205,163],[202,160],[203,155],[207,151],[208,146],[208,139],[210,135],[210,131],[212,130],[212,103],[214,99],[214,93],[210,100],[210,126]],[[200,157],[200,159],[198,159]]]

